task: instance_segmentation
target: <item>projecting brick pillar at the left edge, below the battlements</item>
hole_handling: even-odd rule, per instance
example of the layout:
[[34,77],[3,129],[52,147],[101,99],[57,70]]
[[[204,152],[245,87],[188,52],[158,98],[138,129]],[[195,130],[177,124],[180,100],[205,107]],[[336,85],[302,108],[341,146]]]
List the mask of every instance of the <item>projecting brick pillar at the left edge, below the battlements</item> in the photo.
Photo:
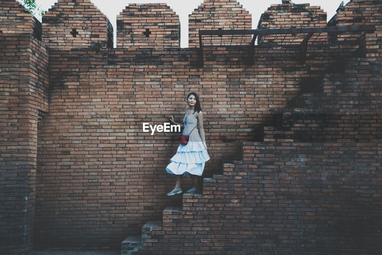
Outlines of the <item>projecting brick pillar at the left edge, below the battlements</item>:
[[32,34],[0,33],[0,250],[32,248],[38,115],[48,112],[48,51]]

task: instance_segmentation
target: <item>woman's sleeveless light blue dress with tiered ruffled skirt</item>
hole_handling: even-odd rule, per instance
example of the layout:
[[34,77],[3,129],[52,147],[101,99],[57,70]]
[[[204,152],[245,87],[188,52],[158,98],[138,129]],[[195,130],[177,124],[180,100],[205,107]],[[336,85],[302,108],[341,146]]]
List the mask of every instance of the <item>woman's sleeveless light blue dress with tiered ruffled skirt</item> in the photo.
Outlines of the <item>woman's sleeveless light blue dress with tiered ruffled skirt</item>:
[[208,156],[207,150],[204,149],[199,130],[194,128],[197,125],[194,112],[187,116],[186,111],[183,124],[185,128],[183,129],[182,135],[190,136],[188,143],[186,145],[180,143],[176,154],[170,159],[170,164],[166,167],[166,171],[169,174],[194,174],[201,176],[203,174],[204,164],[210,160],[210,157]]

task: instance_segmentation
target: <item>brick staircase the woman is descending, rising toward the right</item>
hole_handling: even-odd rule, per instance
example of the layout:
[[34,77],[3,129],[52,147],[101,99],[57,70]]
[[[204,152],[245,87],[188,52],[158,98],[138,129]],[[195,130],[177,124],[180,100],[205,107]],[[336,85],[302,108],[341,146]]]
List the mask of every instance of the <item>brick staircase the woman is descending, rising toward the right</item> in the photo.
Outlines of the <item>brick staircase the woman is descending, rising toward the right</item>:
[[241,160],[204,178],[201,193],[184,193],[182,205],[126,238],[121,254],[380,250],[381,67],[346,59],[343,73],[325,75],[317,93],[301,94],[276,127],[264,127],[264,141],[244,142]]

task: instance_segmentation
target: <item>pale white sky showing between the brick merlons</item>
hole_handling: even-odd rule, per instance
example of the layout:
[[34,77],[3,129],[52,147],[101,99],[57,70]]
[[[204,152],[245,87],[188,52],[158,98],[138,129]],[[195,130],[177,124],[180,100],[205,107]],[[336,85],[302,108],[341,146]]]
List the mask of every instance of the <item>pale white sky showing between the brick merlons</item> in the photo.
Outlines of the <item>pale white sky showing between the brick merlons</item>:
[[[202,0],[167,0],[167,1],[144,1],[144,0],[91,0],[91,2],[98,7],[102,13],[104,13],[110,20],[114,29],[114,47],[116,47],[116,27],[117,27],[117,15],[125,9],[129,3],[167,3],[170,8],[179,16],[180,19],[180,47],[188,47],[188,15],[196,9],[202,2]],[[43,10],[48,10],[49,8],[57,2],[56,0],[36,0],[37,6],[41,5]],[[239,0],[238,1],[245,10],[252,14],[252,29],[257,28],[257,23],[259,23],[260,15],[264,13],[265,10],[271,4],[280,4],[281,0],[268,0],[268,1],[259,1],[259,0]],[[321,6],[327,13],[327,19],[331,19],[335,14],[338,6],[342,0],[292,0],[293,3],[310,3],[311,6]],[[349,0],[344,0],[345,4]],[[41,21],[41,17],[37,16]]]

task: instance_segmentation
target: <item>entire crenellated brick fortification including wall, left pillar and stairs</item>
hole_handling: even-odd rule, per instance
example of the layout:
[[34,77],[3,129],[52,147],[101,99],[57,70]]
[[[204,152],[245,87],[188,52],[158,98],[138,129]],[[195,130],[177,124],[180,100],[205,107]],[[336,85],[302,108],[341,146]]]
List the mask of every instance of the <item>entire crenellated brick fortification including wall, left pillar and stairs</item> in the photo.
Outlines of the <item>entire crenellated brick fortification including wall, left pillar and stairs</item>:
[[[379,5],[354,0],[335,19],[350,13],[370,24],[373,12],[379,22]],[[202,3],[190,15],[186,49],[166,4],[133,6],[139,14],[121,12],[121,44],[110,49],[110,22],[90,1],[52,6],[43,18],[45,44],[30,14],[0,0],[7,10],[0,13],[2,252],[115,248],[131,235],[139,240],[126,239],[123,253],[381,250],[379,31],[359,41],[359,58],[339,61],[358,45],[308,45],[301,65],[299,47],[258,45],[248,65],[248,49],[215,47],[204,49],[200,67],[198,29],[251,28],[241,5]],[[145,14],[146,7],[159,16]],[[326,15],[290,1],[272,8],[269,22],[277,26],[307,18],[321,26]],[[291,8],[295,24],[276,15]],[[160,29],[175,20],[168,35],[176,46],[126,39],[126,17]],[[145,48],[156,46],[162,49]],[[169,115],[181,122],[190,91],[205,112],[211,160],[201,194],[167,197],[175,177],[165,167],[180,133],[151,136],[142,123],[163,124]],[[181,185],[191,188],[190,178]]]

